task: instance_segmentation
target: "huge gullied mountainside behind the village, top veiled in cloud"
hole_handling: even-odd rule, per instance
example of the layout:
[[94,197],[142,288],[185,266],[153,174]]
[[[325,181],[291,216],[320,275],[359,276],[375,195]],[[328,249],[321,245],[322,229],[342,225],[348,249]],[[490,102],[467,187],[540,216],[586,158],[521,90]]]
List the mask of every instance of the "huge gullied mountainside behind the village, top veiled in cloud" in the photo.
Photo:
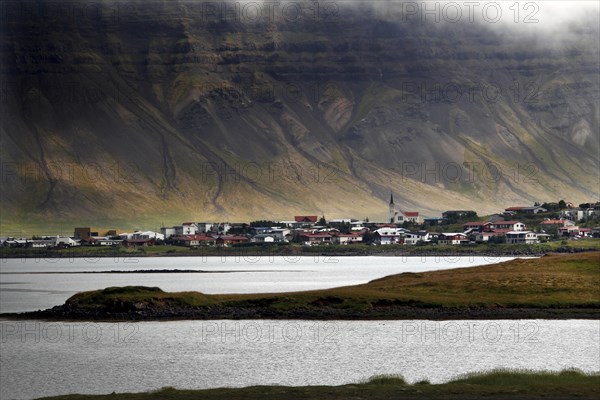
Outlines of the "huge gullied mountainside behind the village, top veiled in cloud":
[[265,4],[3,4],[1,228],[598,200],[597,14]]

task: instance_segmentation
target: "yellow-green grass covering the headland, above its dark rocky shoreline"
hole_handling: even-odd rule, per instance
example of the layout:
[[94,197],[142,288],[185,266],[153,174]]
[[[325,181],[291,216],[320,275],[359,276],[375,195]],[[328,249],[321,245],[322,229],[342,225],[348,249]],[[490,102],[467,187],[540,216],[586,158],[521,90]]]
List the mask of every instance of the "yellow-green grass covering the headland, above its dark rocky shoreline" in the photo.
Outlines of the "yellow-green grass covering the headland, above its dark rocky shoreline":
[[159,288],[115,287],[74,295],[67,303],[98,309],[119,303],[160,309],[333,308],[368,312],[390,306],[600,308],[600,252],[553,254],[498,264],[403,273],[366,284],[295,293],[205,295]]

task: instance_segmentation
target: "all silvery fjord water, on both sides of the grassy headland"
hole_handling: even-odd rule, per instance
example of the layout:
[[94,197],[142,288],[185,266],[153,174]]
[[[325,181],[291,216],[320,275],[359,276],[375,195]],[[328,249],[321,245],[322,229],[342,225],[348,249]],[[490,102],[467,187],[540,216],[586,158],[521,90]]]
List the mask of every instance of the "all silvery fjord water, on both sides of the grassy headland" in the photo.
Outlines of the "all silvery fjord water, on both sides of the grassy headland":
[[[281,292],[485,257],[157,257],[0,263],[3,312],[62,304],[81,290],[148,285],[205,293]],[[109,273],[194,270],[205,273]],[[101,273],[88,273],[88,272]],[[447,381],[494,368],[600,370],[600,322],[223,320],[0,321],[0,398],[138,392],[164,386],[339,385],[378,374]]]

